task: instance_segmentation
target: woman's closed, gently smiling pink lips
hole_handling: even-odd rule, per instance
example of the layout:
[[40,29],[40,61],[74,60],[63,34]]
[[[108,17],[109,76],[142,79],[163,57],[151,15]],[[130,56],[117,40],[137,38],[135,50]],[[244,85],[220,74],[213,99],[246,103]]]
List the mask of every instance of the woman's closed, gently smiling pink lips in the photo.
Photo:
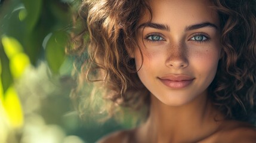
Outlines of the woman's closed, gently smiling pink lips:
[[169,88],[186,88],[193,82],[195,77],[179,74],[158,77],[158,79]]

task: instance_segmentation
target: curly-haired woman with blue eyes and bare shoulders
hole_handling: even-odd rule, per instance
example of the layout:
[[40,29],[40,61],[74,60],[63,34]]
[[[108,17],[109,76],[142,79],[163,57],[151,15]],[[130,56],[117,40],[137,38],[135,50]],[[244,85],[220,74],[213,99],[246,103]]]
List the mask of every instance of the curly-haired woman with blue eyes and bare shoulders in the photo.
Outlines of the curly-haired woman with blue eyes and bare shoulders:
[[146,122],[98,142],[256,142],[254,5],[84,1],[88,80],[113,105],[148,107]]

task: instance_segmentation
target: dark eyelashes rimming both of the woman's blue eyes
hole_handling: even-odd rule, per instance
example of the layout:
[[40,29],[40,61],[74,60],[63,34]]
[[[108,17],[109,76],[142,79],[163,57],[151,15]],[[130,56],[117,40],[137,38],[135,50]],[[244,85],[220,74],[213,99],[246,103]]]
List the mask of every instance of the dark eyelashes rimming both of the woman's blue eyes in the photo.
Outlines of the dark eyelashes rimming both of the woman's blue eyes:
[[[150,38],[150,36],[159,36],[160,37],[160,40],[153,40],[152,38],[151,39],[149,39]],[[205,39],[202,39],[202,41],[196,41],[196,40],[192,40],[192,38],[194,38],[195,39],[195,37],[196,36],[203,36],[203,38],[205,38]],[[146,35],[145,36],[145,39],[147,40],[147,41],[149,41],[149,42],[153,42],[153,43],[155,43],[155,42],[161,42],[161,41],[165,41],[165,39],[164,38],[162,38],[162,35],[160,35],[159,33],[150,33],[149,35]],[[189,41],[194,41],[194,42],[198,42],[198,43],[202,43],[202,42],[208,42],[209,41],[209,36],[208,35],[206,35],[206,34],[204,34],[204,33],[196,33],[196,34],[194,34],[193,36],[192,36],[192,38],[190,38],[189,39]]]

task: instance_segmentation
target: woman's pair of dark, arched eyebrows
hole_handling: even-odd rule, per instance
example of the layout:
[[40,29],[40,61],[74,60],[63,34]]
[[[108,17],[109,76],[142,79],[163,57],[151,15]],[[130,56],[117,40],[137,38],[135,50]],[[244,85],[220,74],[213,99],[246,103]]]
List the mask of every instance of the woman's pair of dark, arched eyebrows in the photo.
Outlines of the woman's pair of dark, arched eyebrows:
[[[151,27],[151,28],[166,30],[166,31],[170,30],[170,27],[168,25],[158,24],[158,23],[150,23],[150,22],[141,24],[140,26],[138,26],[138,29],[144,28],[144,27]],[[185,31],[201,29],[202,27],[213,27],[214,29],[218,29],[218,26],[216,26],[215,24],[209,23],[209,22],[204,22],[204,23],[193,24],[193,25],[187,26],[185,28]]]

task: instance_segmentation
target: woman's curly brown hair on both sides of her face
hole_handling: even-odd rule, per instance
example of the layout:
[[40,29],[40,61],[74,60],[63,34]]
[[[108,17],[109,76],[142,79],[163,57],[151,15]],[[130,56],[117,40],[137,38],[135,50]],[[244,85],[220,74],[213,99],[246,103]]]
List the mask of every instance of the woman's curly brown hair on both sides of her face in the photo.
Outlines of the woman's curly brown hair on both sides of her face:
[[[106,89],[103,97],[113,105],[135,109],[150,105],[149,91],[138,79],[135,61],[129,57],[139,47],[138,21],[146,11],[152,14],[148,2],[88,0],[81,4],[79,17],[87,27],[73,41],[78,57],[84,53],[88,57],[82,62],[81,80],[102,83],[100,86]],[[227,119],[255,122],[255,1],[212,2],[220,18],[223,58],[209,95]],[[90,40],[84,42],[87,34]]]

